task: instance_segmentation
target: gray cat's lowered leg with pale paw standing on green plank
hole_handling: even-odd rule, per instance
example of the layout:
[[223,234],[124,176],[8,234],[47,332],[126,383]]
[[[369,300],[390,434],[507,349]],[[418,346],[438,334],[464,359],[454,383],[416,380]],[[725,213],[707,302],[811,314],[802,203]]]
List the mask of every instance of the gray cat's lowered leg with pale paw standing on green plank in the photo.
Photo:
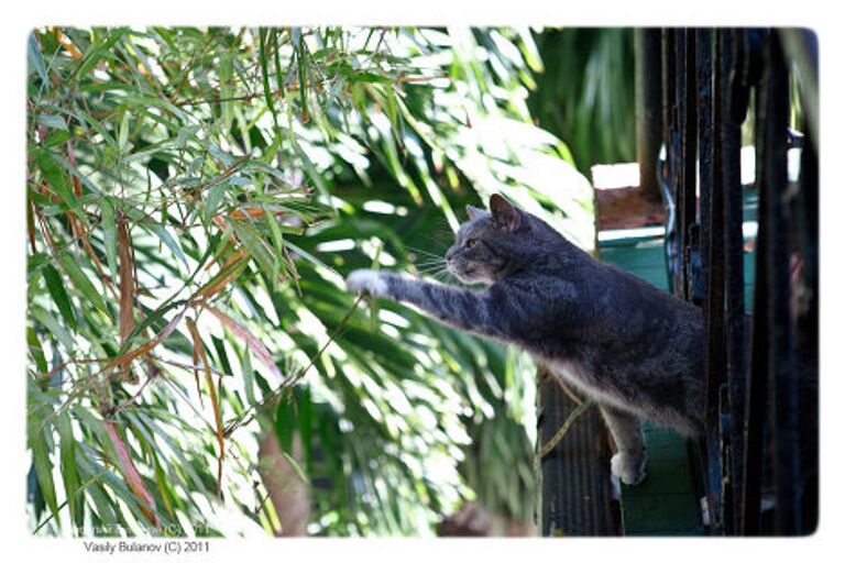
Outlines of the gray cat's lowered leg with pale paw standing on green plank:
[[626,485],[638,485],[646,478],[646,442],[635,415],[600,405],[602,417],[616,444],[611,457],[611,473]]

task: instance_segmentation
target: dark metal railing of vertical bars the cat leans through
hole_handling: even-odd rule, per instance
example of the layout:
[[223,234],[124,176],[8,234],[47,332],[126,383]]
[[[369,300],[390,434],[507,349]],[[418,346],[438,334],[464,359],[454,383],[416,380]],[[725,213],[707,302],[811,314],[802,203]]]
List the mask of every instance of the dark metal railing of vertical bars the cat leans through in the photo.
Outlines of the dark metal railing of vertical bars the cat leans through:
[[[638,64],[661,69],[661,87],[650,87],[660,88],[662,106],[657,180],[669,211],[671,286],[705,316],[701,457],[711,529],[811,533],[819,455],[815,37],[802,30],[671,29],[645,30],[637,41],[654,45],[658,36],[659,52],[641,48]],[[790,130],[795,112],[803,134]],[[746,119],[759,198],[749,314],[740,183]],[[794,181],[790,148],[801,150]],[[639,158],[654,156],[640,151]]]

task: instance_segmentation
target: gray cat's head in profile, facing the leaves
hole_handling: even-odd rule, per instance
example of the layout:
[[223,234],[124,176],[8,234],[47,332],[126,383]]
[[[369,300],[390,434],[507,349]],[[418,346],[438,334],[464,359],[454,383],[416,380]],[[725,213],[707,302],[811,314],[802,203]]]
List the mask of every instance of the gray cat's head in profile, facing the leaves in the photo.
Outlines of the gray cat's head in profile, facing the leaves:
[[502,196],[490,198],[490,211],[467,206],[467,214],[446,254],[447,269],[464,284],[495,284],[534,254],[533,216]]

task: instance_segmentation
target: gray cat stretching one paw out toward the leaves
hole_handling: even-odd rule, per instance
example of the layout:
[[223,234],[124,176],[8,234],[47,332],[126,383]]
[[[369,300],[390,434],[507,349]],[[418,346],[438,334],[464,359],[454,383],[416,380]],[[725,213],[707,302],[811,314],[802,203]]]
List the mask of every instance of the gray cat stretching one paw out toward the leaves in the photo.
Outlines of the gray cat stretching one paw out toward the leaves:
[[467,289],[359,269],[352,291],[411,303],[435,319],[514,344],[600,405],[616,444],[611,471],[645,478],[638,417],[681,432],[704,427],[703,316],[699,308],[603,264],[537,217],[495,195],[468,208],[446,254]]

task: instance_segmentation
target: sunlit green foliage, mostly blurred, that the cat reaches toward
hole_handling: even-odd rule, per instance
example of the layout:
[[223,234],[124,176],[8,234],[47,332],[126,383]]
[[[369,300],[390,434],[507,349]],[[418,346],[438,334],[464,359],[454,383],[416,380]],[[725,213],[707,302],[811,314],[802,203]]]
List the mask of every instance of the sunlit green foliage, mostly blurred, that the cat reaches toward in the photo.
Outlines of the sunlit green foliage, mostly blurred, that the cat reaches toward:
[[634,159],[630,31],[28,42],[35,533],[536,533],[531,362],[342,279],[445,280],[496,191],[592,249],[584,174]]

